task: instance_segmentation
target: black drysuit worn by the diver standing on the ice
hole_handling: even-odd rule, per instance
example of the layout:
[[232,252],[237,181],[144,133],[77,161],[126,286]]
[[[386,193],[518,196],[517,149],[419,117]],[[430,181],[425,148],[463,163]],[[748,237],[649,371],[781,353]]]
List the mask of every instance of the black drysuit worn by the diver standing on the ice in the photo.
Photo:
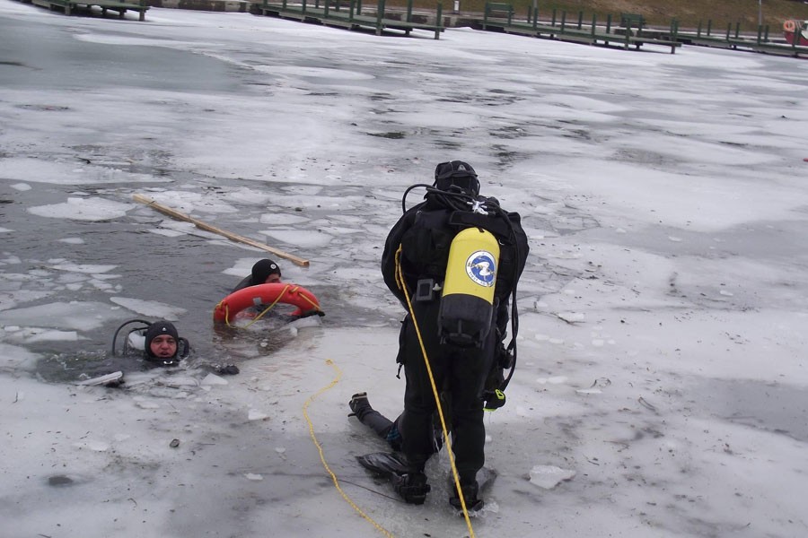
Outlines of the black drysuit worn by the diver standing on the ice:
[[[483,423],[482,391],[489,372],[502,349],[500,339],[508,325],[508,299],[522,274],[528,254],[527,238],[517,213],[491,211],[488,215],[456,211],[445,203],[444,194],[430,192],[426,202],[404,213],[387,237],[382,254],[384,282],[407,307],[407,296],[423,339],[435,386],[439,392],[451,395],[452,449],[461,482],[473,482],[485,463],[485,425]],[[470,198],[467,198],[470,199]],[[486,198],[479,197],[479,201]],[[491,208],[498,209],[496,200],[488,199]],[[449,247],[454,236],[471,226],[491,231],[500,245],[499,268],[496,274],[494,315],[491,329],[481,347],[459,347],[441,343],[438,335],[440,292],[433,299],[415,300],[417,282],[433,279],[443,285]],[[397,252],[406,291],[396,282]],[[404,365],[407,386],[404,412],[399,419],[401,449],[411,464],[422,469],[435,452],[433,413],[435,396],[430,383],[424,353],[408,314],[401,326],[398,361]]]

